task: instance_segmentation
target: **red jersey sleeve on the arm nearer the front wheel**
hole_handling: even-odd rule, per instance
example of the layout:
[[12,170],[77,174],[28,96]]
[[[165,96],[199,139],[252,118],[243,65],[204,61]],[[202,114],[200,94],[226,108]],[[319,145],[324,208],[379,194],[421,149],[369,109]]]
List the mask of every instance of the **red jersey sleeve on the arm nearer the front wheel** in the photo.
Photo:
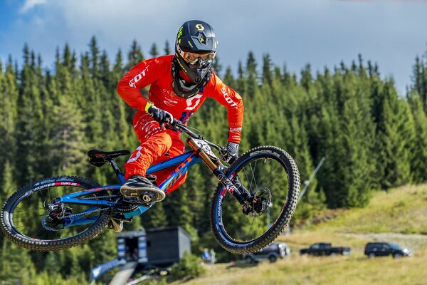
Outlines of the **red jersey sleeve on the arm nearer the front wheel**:
[[233,88],[226,86],[215,74],[212,77],[214,87],[208,95],[228,109],[228,141],[239,143],[241,140],[244,111],[241,95],[238,95]]

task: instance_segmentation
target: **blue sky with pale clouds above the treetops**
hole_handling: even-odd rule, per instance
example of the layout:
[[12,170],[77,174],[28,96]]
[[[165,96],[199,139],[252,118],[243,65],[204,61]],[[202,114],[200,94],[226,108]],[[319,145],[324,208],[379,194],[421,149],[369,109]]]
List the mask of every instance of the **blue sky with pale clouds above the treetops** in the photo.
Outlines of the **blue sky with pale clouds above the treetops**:
[[404,95],[416,56],[427,50],[427,0],[0,0],[0,61],[22,61],[24,43],[53,68],[65,43],[78,55],[95,36],[110,60],[135,39],[144,56],[152,43],[173,48],[178,28],[206,21],[219,41],[217,56],[237,71],[252,51],[299,74],[350,65],[362,54],[394,78]]

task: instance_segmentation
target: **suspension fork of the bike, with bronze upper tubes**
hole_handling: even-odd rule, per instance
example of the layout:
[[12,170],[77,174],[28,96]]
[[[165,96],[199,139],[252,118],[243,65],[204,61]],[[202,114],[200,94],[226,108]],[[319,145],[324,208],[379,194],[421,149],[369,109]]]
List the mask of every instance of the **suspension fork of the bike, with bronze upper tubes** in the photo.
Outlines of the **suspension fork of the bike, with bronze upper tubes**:
[[236,185],[233,185],[233,182],[231,182],[224,173],[226,167],[221,163],[221,160],[218,160],[216,157],[209,157],[209,155],[207,155],[206,152],[201,149],[201,147],[199,147],[192,138],[187,138],[186,142],[197,153],[197,155],[201,157],[201,160],[203,160],[203,162],[214,173],[223,187],[226,187],[227,192],[233,195],[233,197],[235,197],[240,204],[247,204],[251,194],[248,192],[248,190],[246,190],[245,187],[243,187],[243,185],[241,185],[241,183],[238,183],[237,187]]

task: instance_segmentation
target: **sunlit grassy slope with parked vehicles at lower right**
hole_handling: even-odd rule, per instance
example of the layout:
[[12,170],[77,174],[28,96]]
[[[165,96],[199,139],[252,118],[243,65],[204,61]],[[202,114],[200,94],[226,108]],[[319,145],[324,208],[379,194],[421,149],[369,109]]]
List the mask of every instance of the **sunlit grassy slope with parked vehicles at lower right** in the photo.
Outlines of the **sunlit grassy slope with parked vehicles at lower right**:
[[[427,185],[378,192],[364,209],[337,212],[336,219],[279,237],[288,243],[292,254],[275,264],[216,264],[207,266],[205,276],[176,284],[427,284]],[[411,249],[413,257],[368,259],[363,254],[364,244],[371,241],[397,242]],[[352,254],[298,254],[299,249],[315,242],[350,246]]]

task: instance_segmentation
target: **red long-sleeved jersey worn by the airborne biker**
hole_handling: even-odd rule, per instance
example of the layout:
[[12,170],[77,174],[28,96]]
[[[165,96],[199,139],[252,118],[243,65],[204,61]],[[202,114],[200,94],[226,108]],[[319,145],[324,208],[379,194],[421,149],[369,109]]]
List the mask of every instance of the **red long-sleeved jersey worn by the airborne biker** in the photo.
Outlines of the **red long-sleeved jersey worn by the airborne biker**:
[[[240,142],[243,123],[243,100],[232,88],[226,86],[212,72],[206,86],[191,98],[182,98],[175,94],[172,88],[172,58],[173,55],[159,56],[138,63],[119,81],[117,93],[138,112],[145,113],[148,100],[157,108],[171,113],[174,118],[186,123],[191,115],[198,110],[206,97],[214,98],[228,108],[228,141]],[[148,100],[139,89],[150,86]]]

